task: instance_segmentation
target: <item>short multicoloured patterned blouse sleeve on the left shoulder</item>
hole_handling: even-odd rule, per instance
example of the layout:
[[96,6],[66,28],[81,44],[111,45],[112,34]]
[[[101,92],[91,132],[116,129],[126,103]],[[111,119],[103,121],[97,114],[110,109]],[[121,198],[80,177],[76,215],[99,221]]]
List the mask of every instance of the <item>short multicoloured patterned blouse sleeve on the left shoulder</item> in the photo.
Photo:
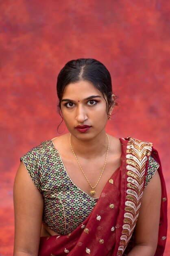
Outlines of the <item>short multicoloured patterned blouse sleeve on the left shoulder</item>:
[[24,163],[37,190],[41,192],[41,184],[39,180],[39,148],[32,148],[28,153],[20,158],[20,161]]

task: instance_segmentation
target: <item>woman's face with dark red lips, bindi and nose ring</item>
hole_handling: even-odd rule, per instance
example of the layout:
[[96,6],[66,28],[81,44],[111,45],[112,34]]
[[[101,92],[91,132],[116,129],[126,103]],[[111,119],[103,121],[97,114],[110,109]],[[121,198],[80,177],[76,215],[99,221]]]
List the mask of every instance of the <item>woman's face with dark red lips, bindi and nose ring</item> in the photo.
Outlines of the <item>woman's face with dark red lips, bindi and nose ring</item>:
[[65,87],[61,112],[68,130],[78,139],[92,139],[105,132],[106,101],[89,81],[70,83]]

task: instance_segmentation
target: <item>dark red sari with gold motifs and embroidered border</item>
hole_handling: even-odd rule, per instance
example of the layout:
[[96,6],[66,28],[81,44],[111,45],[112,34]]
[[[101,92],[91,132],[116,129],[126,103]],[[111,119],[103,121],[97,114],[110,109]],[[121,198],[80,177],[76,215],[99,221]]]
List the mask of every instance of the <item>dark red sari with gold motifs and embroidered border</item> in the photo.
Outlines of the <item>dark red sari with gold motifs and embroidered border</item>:
[[167,234],[167,198],[159,155],[149,142],[131,137],[120,141],[121,166],[106,183],[92,212],[68,235],[41,237],[39,256],[126,256],[134,246],[133,231],[139,215],[150,155],[159,163],[162,188],[155,256],[163,255]]

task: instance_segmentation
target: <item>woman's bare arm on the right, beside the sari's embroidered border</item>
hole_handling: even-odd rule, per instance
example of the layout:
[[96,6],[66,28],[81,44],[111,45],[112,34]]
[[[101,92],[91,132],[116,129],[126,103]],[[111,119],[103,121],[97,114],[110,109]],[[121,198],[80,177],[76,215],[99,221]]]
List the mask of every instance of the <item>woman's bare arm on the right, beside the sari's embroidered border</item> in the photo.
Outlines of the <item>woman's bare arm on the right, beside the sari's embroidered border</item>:
[[135,247],[128,256],[154,256],[157,249],[161,208],[161,182],[156,172],[144,189],[135,227]]

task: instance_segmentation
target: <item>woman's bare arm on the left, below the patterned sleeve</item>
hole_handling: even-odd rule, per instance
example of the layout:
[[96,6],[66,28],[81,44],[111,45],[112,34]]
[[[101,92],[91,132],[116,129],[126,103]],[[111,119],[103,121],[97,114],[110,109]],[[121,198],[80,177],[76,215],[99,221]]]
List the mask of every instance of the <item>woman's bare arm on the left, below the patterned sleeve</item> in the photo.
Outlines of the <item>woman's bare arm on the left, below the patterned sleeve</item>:
[[43,199],[23,162],[14,182],[14,256],[37,256],[41,233]]

